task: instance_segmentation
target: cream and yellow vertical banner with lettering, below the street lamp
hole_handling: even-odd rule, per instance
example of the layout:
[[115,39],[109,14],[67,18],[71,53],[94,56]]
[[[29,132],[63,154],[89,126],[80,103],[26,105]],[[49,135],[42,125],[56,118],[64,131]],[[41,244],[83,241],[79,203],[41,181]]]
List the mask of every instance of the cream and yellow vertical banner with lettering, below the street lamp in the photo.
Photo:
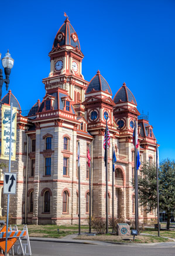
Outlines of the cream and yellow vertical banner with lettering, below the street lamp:
[[[16,115],[17,108],[12,111],[12,139],[11,139],[11,160],[16,158]],[[1,159],[9,159],[10,146],[10,131],[11,131],[11,107],[2,105],[2,135],[1,135]]]

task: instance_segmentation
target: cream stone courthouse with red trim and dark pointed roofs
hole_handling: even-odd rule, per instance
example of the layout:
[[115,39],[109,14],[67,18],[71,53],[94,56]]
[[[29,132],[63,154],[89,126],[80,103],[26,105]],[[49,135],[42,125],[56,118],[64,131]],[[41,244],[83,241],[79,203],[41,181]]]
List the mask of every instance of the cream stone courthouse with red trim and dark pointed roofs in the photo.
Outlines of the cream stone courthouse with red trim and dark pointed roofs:
[[[2,102],[18,108],[16,195],[10,196],[10,214],[17,224],[76,224],[78,197],[81,220],[89,215],[89,176],[87,151],[92,158],[92,215],[105,218],[105,117],[111,135],[108,149],[108,212],[112,214],[112,147],[115,148],[115,217],[135,219],[134,121],[138,124],[141,164],[156,160],[156,138],[147,117],[137,109],[129,85],[113,92],[97,71],[90,82],[82,74],[83,52],[76,31],[68,18],[57,32],[50,57],[50,74],[43,79],[46,94],[27,115],[11,91]],[[48,64],[49,65],[49,64]],[[91,71],[89,71],[91,72]],[[123,78],[125,79],[125,78]],[[112,95],[114,95],[112,99]],[[24,95],[25,97],[25,95]],[[37,95],[36,95],[37,97]],[[78,194],[77,142],[80,141],[80,182]],[[6,195],[2,193],[2,212],[6,214]],[[155,218],[139,209],[139,218]]]

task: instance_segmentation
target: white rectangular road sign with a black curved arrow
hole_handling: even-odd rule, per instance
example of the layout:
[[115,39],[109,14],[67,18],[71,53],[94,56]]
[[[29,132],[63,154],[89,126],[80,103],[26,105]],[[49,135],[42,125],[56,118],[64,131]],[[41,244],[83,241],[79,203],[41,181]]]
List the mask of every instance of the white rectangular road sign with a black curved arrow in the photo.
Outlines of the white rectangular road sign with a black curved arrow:
[[13,172],[4,173],[4,194],[16,194],[16,174]]

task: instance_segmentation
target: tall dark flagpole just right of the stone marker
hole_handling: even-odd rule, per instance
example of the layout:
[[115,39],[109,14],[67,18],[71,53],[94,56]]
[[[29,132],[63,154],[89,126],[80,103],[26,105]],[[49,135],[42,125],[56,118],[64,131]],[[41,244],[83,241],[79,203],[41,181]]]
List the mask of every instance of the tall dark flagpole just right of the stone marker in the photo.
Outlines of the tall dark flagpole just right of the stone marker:
[[134,149],[135,149],[135,229],[138,230],[138,175],[137,175],[137,164],[136,164],[136,120],[135,120],[135,132],[134,132]]

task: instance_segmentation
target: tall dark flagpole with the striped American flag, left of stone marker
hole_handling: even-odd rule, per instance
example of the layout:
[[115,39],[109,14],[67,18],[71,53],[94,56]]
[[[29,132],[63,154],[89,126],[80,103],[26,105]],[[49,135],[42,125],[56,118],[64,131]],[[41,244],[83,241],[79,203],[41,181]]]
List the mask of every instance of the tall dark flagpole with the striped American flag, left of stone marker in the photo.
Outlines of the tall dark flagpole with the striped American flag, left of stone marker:
[[108,129],[106,115],[106,233],[108,234]]

